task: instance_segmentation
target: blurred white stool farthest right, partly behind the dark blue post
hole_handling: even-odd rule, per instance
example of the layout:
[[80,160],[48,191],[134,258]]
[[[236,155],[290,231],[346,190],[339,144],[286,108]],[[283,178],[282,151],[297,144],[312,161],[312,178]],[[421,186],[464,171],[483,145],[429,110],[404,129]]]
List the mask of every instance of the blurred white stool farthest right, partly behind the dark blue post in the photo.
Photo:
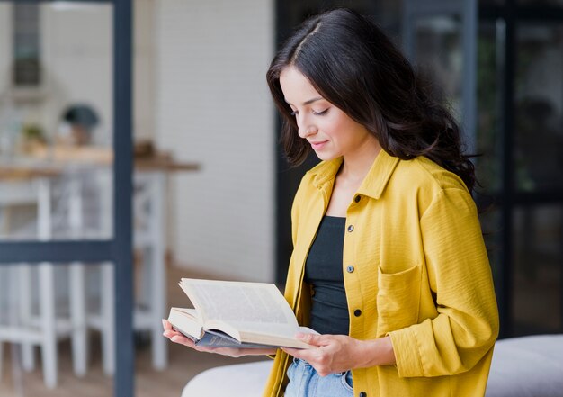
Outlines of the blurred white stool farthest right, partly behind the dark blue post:
[[[109,185],[109,179],[102,185]],[[166,309],[166,268],[164,231],[165,174],[163,172],[140,172],[134,176],[134,248],[142,253],[140,291],[137,293],[133,328],[147,330],[151,335],[152,362],[157,370],[165,369],[168,361],[165,338],[162,338],[162,321]],[[102,199],[101,211],[105,214],[102,230],[110,230],[111,203]],[[101,332],[103,344],[103,372],[115,371],[115,331],[113,329],[114,297],[113,268],[111,264],[101,267],[100,307],[88,311],[87,325]]]

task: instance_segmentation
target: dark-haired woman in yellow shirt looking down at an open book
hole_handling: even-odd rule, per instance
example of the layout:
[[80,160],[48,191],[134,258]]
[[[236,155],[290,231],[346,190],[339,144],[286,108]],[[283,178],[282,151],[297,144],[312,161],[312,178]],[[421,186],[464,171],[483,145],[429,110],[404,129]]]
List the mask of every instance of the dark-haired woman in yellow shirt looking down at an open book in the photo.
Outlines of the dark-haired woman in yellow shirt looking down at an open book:
[[484,395],[498,314],[474,167],[451,114],[346,9],[303,23],[267,81],[287,158],[313,149],[323,161],[293,203],[285,288],[321,335],[275,353],[264,395]]

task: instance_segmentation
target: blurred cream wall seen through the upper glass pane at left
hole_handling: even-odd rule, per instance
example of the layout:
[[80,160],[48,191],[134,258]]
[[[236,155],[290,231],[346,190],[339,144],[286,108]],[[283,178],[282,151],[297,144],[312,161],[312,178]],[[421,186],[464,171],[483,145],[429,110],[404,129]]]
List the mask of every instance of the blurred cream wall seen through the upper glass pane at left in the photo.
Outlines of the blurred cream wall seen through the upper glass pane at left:
[[[12,8],[0,3],[0,113],[13,112],[17,122],[39,123],[53,138],[68,104],[91,104],[108,141],[112,126],[112,7],[76,4],[40,5],[39,88],[14,90]],[[22,95],[25,91],[25,95]]]

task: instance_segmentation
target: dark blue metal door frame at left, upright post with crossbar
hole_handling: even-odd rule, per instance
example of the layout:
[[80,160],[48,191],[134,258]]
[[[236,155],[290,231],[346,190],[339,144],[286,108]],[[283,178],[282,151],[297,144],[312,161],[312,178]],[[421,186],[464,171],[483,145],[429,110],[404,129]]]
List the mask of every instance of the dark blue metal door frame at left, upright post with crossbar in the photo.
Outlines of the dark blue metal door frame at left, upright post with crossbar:
[[[49,0],[0,0],[13,3]],[[80,241],[0,241],[6,263],[105,262],[113,264],[115,291],[114,396],[134,395],[132,273],[132,0],[66,0],[113,5],[113,234],[112,239]],[[119,131],[119,132],[117,132]]]

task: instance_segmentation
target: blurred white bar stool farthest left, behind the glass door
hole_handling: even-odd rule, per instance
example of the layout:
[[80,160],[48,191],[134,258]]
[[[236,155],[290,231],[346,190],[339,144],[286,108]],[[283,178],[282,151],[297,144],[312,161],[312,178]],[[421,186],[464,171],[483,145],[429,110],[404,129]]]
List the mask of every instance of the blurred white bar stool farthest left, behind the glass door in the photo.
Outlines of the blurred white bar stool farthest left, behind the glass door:
[[[40,240],[47,240],[51,238],[52,233],[52,180],[42,177],[34,182],[38,208],[36,236]],[[31,371],[35,366],[34,347],[40,346],[44,381],[47,387],[53,388],[57,385],[58,340],[71,337],[75,374],[85,374],[86,338],[79,266],[70,267],[69,289],[74,295],[74,299],[71,299],[73,304],[66,318],[60,318],[56,311],[54,265],[49,263],[41,263],[36,266],[19,264],[10,270],[9,282],[18,286],[17,293],[10,295],[17,296],[17,309],[12,309],[14,315],[10,316],[11,320],[0,324],[0,343],[11,342],[22,346],[22,367],[27,371]],[[37,290],[39,294],[36,298],[39,302],[39,310],[37,313],[32,311],[34,295],[31,281],[34,273],[38,274]],[[10,303],[13,308],[14,302]]]

